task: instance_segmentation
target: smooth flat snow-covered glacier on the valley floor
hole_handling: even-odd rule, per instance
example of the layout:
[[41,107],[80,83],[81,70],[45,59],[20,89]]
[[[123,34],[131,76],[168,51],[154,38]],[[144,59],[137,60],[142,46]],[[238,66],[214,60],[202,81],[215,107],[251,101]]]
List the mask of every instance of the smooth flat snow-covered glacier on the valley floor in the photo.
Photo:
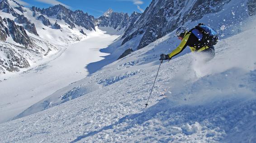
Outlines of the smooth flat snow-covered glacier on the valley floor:
[[[0,123],[11,120],[69,83],[84,78],[88,74],[85,66],[102,60],[101,56],[107,54],[100,52],[100,48],[108,46],[117,37],[97,29],[97,32],[89,33],[82,42],[62,46],[59,53],[41,61],[39,66],[0,82]],[[100,42],[95,43],[97,40]]]

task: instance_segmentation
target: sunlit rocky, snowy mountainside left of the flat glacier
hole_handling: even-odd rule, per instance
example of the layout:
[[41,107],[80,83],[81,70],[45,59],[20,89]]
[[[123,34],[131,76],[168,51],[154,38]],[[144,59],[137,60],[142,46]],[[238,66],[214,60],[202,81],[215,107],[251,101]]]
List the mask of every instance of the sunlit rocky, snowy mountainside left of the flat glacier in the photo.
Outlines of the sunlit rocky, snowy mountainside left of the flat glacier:
[[[0,1],[0,80],[40,65],[63,47],[95,32],[93,17],[62,5],[47,9]],[[87,33],[87,34],[86,34]]]

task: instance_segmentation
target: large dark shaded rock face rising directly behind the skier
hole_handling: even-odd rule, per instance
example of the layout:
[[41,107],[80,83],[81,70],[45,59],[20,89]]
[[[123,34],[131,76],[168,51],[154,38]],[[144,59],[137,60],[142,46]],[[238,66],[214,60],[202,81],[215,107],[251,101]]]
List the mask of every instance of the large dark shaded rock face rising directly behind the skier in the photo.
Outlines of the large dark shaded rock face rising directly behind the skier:
[[178,26],[191,20],[202,18],[205,14],[218,12],[230,0],[195,0],[187,5],[184,0],[152,0],[151,4],[136,23],[130,25],[123,35],[122,45],[144,33],[137,49],[147,46],[165,36]]

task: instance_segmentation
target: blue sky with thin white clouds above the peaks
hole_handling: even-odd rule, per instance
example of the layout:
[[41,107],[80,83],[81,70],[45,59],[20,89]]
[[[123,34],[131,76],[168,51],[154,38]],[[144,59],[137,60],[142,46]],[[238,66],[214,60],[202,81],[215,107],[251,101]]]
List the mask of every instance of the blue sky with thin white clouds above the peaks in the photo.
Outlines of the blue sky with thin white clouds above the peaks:
[[109,8],[116,12],[124,12],[129,15],[133,11],[142,13],[152,0],[16,0],[25,7],[47,8],[52,5],[62,4],[71,10],[80,9],[93,15],[95,18],[100,17]]

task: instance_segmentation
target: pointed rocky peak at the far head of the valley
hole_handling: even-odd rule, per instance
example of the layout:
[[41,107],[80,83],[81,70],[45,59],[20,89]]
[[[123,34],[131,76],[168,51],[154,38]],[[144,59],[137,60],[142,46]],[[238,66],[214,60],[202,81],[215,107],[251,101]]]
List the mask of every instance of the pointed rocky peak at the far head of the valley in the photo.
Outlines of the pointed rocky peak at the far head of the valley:
[[113,12],[109,9],[103,16],[95,19],[95,25],[99,27],[111,27],[117,30],[126,28],[129,21],[129,15],[126,13]]

